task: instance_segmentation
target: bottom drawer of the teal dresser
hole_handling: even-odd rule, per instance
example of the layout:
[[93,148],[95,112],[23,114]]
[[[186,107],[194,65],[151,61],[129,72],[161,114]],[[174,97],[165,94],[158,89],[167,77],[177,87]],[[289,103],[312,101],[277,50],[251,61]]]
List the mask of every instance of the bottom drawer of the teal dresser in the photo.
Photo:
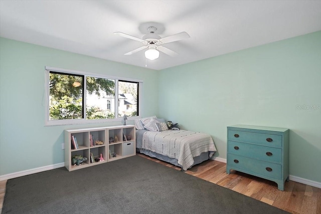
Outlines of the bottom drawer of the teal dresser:
[[230,168],[240,170],[249,174],[258,174],[263,176],[282,178],[282,165],[266,162],[263,160],[242,157],[234,154],[228,154],[227,159]]

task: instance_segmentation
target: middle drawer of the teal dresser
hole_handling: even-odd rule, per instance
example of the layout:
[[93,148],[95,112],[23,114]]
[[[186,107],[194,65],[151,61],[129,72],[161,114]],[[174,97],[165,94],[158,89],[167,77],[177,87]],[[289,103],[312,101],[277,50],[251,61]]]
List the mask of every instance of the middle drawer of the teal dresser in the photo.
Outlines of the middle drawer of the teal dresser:
[[281,163],[282,149],[228,141],[228,153]]

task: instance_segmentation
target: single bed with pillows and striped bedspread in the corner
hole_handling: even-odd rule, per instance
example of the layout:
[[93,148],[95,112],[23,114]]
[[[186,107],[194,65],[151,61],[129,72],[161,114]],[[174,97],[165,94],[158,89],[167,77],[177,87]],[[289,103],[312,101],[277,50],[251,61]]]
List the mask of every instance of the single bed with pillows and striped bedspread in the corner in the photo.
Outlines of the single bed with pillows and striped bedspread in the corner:
[[187,170],[210,159],[216,152],[209,134],[169,129],[155,116],[135,120],[136,151]]

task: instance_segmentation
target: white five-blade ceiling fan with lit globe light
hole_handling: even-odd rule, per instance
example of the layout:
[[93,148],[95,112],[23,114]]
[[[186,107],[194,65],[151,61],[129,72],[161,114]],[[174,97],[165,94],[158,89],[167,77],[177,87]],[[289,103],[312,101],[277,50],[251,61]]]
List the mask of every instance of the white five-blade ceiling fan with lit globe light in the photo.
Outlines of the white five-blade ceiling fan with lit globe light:
[[144,45],[140,48],[137,48],[133,51],[126,53],[125,55],[131,55],[131,54],[134,54],[136,52],[139,52],[139,51],[142,51],[142,50],[148,48],[148,50],[145,51],[145,57],[149,60],[157,59],[159,57],[159,51],[161,51],[171,57],[177,56],[178,53],[176,53],[175,51],[172,51],[171,49],[168,49],[162,45],[166,44],[166,43],[176,42],[179,40],[184,40],[184,39],[190,38],[190,35],[188,35],[188,33],[186,33],[186,32],[181,32],[178,34],[174,34],[172,36],[161,38],[155,34],[156,30],[157,30],[157,28],[155,28],[155,27],[148,27],[147,31],[149,32],[149,34],[143,36],[142,39],[139,39],[137,37],[133,37],[128,34],[121,33],[121,32],[115,32],[114,34],[119,35],[121,37],[128,38],[128,39],[136,40],[138,42],[141,42]]

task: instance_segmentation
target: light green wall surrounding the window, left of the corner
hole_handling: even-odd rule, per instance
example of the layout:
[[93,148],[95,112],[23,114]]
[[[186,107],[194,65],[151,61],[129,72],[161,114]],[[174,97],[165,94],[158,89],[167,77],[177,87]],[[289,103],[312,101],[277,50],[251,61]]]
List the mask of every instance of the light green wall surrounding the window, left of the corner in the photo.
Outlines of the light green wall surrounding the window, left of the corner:
[[142,116],[157,115],[157,71],[0,38],[0,175],[64,162],[64,129],[120,125],[45,127],[45,66],[143,80]]

